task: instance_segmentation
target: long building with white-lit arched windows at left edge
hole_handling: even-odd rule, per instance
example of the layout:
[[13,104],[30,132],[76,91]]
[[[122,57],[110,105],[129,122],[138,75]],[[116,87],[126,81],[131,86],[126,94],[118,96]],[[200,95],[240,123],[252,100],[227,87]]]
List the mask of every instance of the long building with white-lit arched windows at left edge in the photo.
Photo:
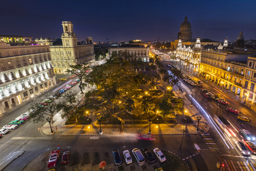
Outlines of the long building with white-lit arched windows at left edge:
[[56,84],[47,45],[0,42],[0,114]]

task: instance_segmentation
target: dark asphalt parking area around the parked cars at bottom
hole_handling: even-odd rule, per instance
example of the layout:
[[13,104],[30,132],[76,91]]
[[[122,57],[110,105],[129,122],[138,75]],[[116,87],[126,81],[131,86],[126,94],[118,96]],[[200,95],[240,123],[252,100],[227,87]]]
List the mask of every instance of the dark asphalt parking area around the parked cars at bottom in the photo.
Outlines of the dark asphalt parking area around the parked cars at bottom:
[[[126,149],[124,149],[126,150]],[[113,154],[112,151],[71,151],[71,158],[68,164],[61,165],[61,155],[64,151],[69,151],[68,149],[63,150],[61,152],[59,161],[57,162],[56,170],[57,171],[64,171],[64,170],[100,170],[99,163],[105,161],[107,163],[105,170],[127,170],[127,171],[135,171],[135,170],[155,170],[156,168],[160,167],[160,163],[155,162],[149,164],[146,162],[143,166],[139,166],[136,162],[134,155],[132,154],[132,149],[129,149],[131,153],[131,157],[133,163],[127,165],[125,163],[123,151],[119,150],[120,156],[122,159],[122,164],[117,166],[114,164]],[[141,149],[142,151],[142,149]],[[150,149],[153,153],[153,149]],[[155,154],[154,154],[155,156]],[[156,160],[157,157],[155,156]]]

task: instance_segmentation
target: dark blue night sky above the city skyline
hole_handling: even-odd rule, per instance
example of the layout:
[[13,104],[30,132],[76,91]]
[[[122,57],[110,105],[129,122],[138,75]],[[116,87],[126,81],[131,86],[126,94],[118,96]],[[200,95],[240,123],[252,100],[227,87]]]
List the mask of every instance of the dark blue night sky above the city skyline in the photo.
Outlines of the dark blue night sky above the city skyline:
[[0,34],[60,37],[62,21],[72,21],[78,40],[177,39],[184,16],[193,38],[234,41],[243,31],[256,39],[256,1],[2,1]]

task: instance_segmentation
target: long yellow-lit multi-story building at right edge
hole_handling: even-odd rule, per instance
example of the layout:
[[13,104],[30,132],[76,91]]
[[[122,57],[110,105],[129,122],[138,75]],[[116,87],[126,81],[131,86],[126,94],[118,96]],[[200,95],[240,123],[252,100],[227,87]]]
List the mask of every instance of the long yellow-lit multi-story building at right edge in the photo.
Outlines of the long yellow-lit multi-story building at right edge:
[[[249,54],[202,51],[200,74],[219,86],[255,103],[256,58]],[[255,74],[254,74],[255,73]]]

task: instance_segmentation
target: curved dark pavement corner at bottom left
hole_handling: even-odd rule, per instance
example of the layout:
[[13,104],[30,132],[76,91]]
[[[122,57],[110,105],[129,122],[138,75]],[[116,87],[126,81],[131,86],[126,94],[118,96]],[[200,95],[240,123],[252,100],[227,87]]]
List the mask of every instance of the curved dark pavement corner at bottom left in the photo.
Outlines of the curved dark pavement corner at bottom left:
[[29,163],[26,164],[24,168],[22,168],[22,171],[30,171],[30,170],[37,170],[37,171],[43,171],[46,169],[47,162],[49,160],[51,150],[46,151],[37,157],[33,158]]

